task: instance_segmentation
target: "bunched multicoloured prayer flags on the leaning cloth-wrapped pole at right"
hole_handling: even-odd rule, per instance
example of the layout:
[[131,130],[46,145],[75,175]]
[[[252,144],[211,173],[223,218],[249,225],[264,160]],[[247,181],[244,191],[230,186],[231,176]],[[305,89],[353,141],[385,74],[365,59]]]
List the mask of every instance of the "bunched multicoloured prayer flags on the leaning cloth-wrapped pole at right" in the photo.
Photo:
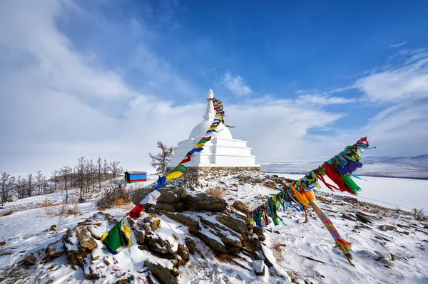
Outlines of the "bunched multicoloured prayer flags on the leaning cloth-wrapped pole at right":
[[[350,254],[351,244],[340,236],[340,233],[337,231],[332,221],[322,212],[320,206],[315,203],[315,196],[311,189],[314,187],[320,188],[319,181],[321,181],[332,191],[340,190],[356,195],[361,191],[361,188],[352,179],[352,177],[356,177],[352,172],[362,167],[359,152],[364,152],[364,149],[370,149],[367,137],[362,137],[352,146],[345,147],[345,149],[335,157],[324,162],[317,167],[317,169],[308,172],[305,177],[295,180],[290,186],[287,186],[287,188],[275,194],[275,196],[267,199],[264,204],[250,211],[250,223],[256,223],[260,228],[263,228],[263,226],[267,226],[271,222],[268,218],[270,217],[275,226],[277,226],[279,224],[278,220],[282,221],[277,215],[277,212],[281,208],[285,211],[286,206],[292,206],[297,211],[306,211],[307,207],[311,206],[335,239],[337,246],[339,246],[340,250],[345,254],[347,260],[350,261],[352,258]],[[323,177],[325,175],[329,177],[334,184],[325,182]],[[357,178],[360,179],[359,177]]]

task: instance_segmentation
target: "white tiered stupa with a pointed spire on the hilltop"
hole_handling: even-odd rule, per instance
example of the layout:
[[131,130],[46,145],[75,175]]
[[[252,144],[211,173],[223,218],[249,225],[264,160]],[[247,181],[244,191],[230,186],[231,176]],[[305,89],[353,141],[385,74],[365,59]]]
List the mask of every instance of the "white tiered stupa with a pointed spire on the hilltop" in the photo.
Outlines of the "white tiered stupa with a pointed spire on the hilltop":
[[[213,105],[214,93],[209,90],[207,94],[207,111],[203,115],[203,122],[196,125],[190,132],[189,139],[178,142],[174,150],[170,167],[175,167],[184,159],[200,138],[205,136],[215,117]],[[251,154],[251,148],[247,147],[247,141],[233,139],[228,127],[220,123],[216,128],[218,133],[211,134],[211,140],[205,143],[203,151],[199,152],[185,167],[251,167],[260,168],[255,164],[255,156]]]

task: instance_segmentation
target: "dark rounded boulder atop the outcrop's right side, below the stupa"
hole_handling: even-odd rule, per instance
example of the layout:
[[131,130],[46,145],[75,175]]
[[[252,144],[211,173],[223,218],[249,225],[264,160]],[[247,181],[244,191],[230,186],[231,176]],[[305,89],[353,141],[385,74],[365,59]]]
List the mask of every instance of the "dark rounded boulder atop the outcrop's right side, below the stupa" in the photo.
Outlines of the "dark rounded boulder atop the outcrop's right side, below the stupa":
[[185,208],[190,211],[223,211],[226,209],[224,199],[205,194],[203,192],[185,197]]

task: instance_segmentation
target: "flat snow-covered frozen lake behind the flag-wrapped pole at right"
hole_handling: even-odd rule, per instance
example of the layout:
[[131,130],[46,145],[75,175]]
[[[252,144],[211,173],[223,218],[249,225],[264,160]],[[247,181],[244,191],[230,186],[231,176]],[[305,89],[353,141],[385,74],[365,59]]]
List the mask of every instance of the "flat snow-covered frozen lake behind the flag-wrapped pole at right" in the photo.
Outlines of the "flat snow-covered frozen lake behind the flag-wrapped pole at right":
[[[275,173],[276,174],[276,173]],[[287,179],[300,179],[303,174],[277,174]],[[340,191],[331,191],[320,182],[322,191],[338,195],[356,197],[361,201],[396,209],[411,211],[413,208],[428,211],[428,180],[420,179],[399,179],[391,177],[362,177],[367,182],[354,179],[361,187],[362,191],[357,196],[342,194]],[[325,177],[326,182],[331,182]]]

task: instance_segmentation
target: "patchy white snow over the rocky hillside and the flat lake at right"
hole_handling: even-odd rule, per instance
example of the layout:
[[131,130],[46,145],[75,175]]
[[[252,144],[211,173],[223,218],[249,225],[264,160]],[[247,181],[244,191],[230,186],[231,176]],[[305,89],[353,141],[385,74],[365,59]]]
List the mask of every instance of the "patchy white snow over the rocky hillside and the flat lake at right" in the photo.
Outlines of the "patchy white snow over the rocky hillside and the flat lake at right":
[[[247,175],[248,177],[255,176],[251,173]],[[260,179],[263,179],[263,174],[258,175]],[[301,175],[283,176],[301,177]],[[144,184],[149,186],[156,181],[156,178],[150,177],[150,181]],[[223,197],[228,204],[241,200],[251,209],[262,204],[268,196],[278,192],[276,189],[270,189],[258,182],[241,184],[237,176],[221,177],[220,179],[212,179],[208,176],[202,183],[203,187],[196,190],[219,186],[223,189]],[[359,184],[362,187],[361,197],[372,196],[375,197],[374,199],[393,201],[394,204],[403,204],[402,206],[409,206],[409,208],[417,207],[418,204],[421,207],[427,202],[427,195],[424,194],[424,191],[415,191],[416,189],[426,191],[427,181],[372,177],[367,178],[367,182],[359,181]],[[133,184],[131,187],[138,186],[141,184]],[[273,223],[270,223],[265,229],[266,240],[263,242],[263,251],[271,262],[279,265],[279,269],[295,279],[295,283],[304,283],[302,279],[310,281],[310,283],[428,283],[428,263],[426,261],[428,230],[423,228],[428,226],[427,223],[413,221],[409,215],[395,211],[384,211],[370,206],[355,206],[355,204],[333,198],[330,192],[327,194],[321,191],[317,194],[318,203],[330,216],[342,237],[352,243],[351,252],[355,267],[350,265],[339,249],[335,247],[327,229],[312,211],[309,212],[310,221],[300,223],[304,216],[294,209],[280,213],[286,226],[282,224],[274,226]],[[377,192],[377,194],[366,195],[370,192]],[[391,198],[394,194],[395,197]],[[71,199],[76,199],[78,191],[71,190],[70,195]],[[43,208],[30,208],[45,199],[59,203],[63,196],[63,193],[49,194],[5,204],[4,210],[9,208],[21,211],[16,211],[9,216],[0,216],[0,236],[4,236],[6,239],[6,245],[0,247],[0,278],[11,265],[21,261],[29,253],[46,248],[48,243],[61,238],[67,228],[73,228],[76,223],[98,211],[95,206],[95,197],[80,204],[81,213],[76,216],[51,216],[46,215]],[[26,207],[29,209],[26,210]],[[121,219],[132,207],[133,205],[128,204],[105,212],[116,219]],[[395,209],[395,206],[392,208]],[[405,208],[403,207],[403,209]],[[362,224],[342,219],[342,213],[354,214],[355,212],[363,212],[372,216],[372,223]],[[166,217],[162,218],[169,223],[165,228],[180,234],[180,231],[177,231],[178,223],[175,226],[173,221]],[[392,226],[401,224],[407,227],[399,228],[398,231],[381,231],[379,224]],[[57,228],[49,231],[52,225],[56,225]],[[415,228],[419,228],[419,231]],[[408,235],[403,231],[407,231]],[[136,246],[131,248],[118,253],[113,258],[119,261],[118,265],[126,264],[128,269],[138,273],[137,268],[142,268],[143,264],[141,258],[135,255],[139,251],[138,248]],[[250,271],[251,267],[249,267],[250,270],[244,268],[247,263],[236,265],[220,261],[210,253],[207,247],[202,251],[205,253],[205,260],[198,256],[191,256],[190,261],[180,268],[178,278],[180,283],[289,283],[286,278],[278,280],[268,274],[256,276]],[[376,261],[381,255],[389,260],[394,255],[395,261],[387,261],[387,263]],[[388,265],[385,266],[386,264]],[[33,269],[33,275],[18,280],[16,283],[36,283],[37,278],[39,278],[39,283],[46,283],[40,280],[48,279],[46,275],[56,279],[53,283],[58,284],[111,283],[112,279],[86,280],[82,271],[73,270],[64,256],[51,263],[46,263],[46,265],[36,264],[31,269]],[[121,274],[121,272],[114,271],[112,273],[113,275],[114,273]],[[42,275],[44,275],[43,278],[41,278]],[[5,279],[3,283],[10,282]],[[136,278],[135,283],[143,283],[143,280]]]

